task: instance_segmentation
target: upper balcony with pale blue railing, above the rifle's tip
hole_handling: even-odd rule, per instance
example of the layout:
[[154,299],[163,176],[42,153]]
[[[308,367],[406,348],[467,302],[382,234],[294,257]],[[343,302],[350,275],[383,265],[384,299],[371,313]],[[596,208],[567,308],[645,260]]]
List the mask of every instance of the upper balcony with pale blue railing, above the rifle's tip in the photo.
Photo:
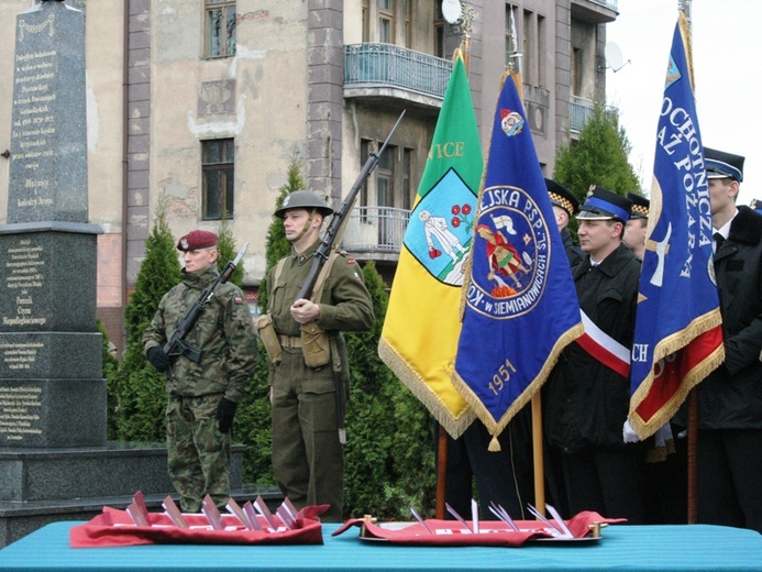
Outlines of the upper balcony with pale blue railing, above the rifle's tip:
[[344,46],[345,98],[397,98],[439,109],[452,62],[394,44]]

